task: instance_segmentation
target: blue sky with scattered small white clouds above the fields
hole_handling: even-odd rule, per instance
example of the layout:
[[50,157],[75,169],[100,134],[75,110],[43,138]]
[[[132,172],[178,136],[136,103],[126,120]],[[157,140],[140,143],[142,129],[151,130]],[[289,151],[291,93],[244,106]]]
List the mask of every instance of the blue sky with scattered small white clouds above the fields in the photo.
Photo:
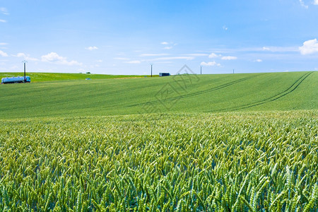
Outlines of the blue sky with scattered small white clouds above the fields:
[[0,0],[0,72],[318,70],[318,0]]

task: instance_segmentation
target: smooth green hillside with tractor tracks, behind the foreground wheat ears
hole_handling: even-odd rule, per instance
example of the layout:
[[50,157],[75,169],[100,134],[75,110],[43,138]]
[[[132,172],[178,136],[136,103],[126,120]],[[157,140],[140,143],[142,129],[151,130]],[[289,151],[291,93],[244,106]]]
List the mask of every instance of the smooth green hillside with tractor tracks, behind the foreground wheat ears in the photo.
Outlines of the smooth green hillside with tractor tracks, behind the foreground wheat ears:
[[318,109],[315,71],[91,78],[1,85],[0,117]]

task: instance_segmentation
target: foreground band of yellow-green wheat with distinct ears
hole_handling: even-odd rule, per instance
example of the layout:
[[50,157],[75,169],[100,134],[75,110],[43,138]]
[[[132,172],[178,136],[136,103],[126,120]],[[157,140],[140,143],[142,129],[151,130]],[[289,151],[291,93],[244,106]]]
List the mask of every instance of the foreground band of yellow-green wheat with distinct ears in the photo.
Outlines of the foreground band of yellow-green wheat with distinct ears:
[[0,120],[0,210],[316,211],[317,118],[315,110]]

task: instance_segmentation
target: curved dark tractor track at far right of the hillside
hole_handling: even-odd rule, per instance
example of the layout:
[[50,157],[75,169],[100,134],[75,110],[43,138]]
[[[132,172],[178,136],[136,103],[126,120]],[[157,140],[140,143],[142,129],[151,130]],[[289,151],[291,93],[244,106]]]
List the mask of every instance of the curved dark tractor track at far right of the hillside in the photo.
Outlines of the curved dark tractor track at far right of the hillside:
[[266,98],[264,100],[260,100],[258,102],[253,102],[253,103],[249,103],[247,105],[241,105],[238,107],[229,107],[227,109],[224,110],[217,110],[215,112],[225,112],[225,111],[232,111],[232,110],[242,110],[242,109],[247,109],[250,107],[255,107],[257,105],[263,105],[266,104],[268,102],[273,102],[275,100],[278,100],[280,98],[282,98],[285,95],[288,95],[289,93],[292,93],[296,88],[298,88],[298,86],[300,86],[300,84],[302,83],[302,81],[305,81],[305,79],[310,76],[310,74],[312,74],[314,71],[311,71],[309,73],[305,73],[304,75],[300,76],[300,78],[298,78],[289,88],[287,88],[286,90],[284,90],[281,93],[278,93],[276,95],[273,95],[269,98]]

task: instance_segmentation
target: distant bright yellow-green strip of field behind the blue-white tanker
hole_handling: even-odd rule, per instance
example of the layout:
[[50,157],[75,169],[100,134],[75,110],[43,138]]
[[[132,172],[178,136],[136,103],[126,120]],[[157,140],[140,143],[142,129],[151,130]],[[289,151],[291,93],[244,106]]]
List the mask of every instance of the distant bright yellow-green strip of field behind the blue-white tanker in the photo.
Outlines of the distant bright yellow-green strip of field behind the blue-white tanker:
[[[70,81],[70,80],[85,80],[86,78],[101,79],[101,78],[139,78],[144,77],[140,75],[107,75],[107,74],[93,74],[93,73],[26,73],[31,77],[33,83],[44,81]],[[24,76],[23,72],[0,72],[0,78],[11,76]]]

